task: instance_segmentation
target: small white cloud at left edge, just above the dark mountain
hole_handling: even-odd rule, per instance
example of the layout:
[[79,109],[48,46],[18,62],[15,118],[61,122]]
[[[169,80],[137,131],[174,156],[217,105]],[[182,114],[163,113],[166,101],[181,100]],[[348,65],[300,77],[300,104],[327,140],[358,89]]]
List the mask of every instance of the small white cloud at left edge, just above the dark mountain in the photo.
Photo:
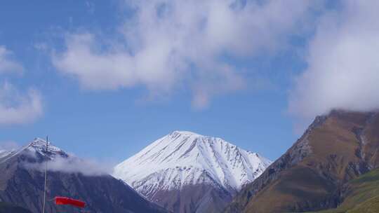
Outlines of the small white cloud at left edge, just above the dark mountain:
[[41,116],[42,108],[37,90],[22,94],[11,83],[0,85],[0,125],[32,122]]

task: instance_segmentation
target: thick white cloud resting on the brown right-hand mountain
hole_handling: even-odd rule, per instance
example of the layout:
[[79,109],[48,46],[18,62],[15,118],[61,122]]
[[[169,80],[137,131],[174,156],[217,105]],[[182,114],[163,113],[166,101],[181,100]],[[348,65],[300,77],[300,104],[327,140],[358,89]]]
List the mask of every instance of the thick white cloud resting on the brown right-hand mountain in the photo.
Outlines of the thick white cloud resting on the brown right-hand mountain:
[[310,41],[308,67],[291,91],[292,114],[379,108],[379,1],[342,4],[321,18]]

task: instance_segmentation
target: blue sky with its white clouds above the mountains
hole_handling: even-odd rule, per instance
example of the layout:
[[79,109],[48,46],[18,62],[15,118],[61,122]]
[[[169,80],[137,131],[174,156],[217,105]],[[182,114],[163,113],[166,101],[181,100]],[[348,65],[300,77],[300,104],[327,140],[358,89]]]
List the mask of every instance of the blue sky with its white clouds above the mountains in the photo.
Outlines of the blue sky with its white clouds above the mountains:
[[378,23],[359,25],[375,18],[370,4],[173,2],[2,2],[0,141],[49,135],[119,162],[189,130],[274,160],[316,115],[377,109],[375,53],[361,38],[377,45]]

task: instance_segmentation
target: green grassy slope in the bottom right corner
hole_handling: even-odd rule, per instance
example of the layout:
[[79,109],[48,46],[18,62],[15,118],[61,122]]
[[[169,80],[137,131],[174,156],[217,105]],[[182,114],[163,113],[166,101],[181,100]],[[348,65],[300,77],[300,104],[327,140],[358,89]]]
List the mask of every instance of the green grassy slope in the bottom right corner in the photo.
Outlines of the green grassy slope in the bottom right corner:
[[336,209],[318,213],[379,212],[379,169],[350,181],[351,190]]

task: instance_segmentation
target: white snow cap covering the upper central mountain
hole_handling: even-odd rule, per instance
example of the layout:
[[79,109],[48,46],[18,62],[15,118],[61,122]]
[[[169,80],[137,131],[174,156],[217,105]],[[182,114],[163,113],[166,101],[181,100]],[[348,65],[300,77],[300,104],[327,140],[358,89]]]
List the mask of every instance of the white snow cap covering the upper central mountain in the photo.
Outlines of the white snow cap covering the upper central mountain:
[[191,184],[237,191],[270,163],[218,137],[175,131],[114,167],[113,175],[146,197]]

